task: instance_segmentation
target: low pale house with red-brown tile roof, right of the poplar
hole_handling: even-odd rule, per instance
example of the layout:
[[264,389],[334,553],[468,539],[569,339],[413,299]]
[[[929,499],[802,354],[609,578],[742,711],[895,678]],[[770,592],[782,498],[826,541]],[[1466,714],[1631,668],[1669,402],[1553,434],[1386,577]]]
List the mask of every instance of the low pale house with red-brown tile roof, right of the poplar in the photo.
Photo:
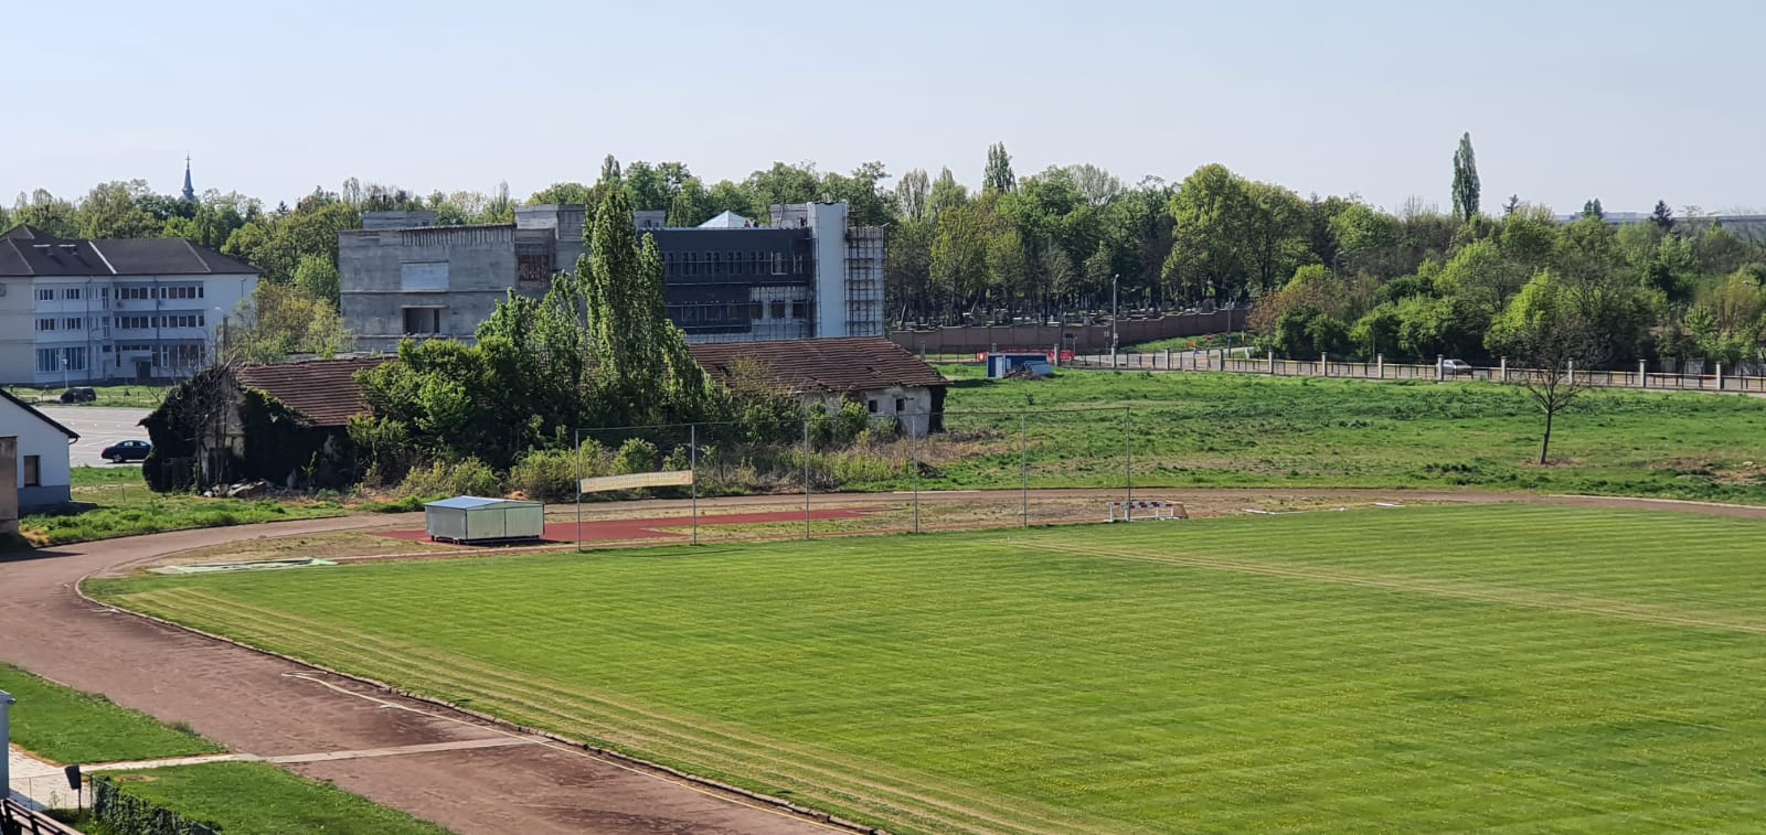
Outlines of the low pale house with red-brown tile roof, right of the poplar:
[[804,401],[860,402],[872,415],[897,418],[902,431],[915,436],[943,429],[950,381],[887,337],[701,342],[691,351],[724,383],[736,365],[752,362]]

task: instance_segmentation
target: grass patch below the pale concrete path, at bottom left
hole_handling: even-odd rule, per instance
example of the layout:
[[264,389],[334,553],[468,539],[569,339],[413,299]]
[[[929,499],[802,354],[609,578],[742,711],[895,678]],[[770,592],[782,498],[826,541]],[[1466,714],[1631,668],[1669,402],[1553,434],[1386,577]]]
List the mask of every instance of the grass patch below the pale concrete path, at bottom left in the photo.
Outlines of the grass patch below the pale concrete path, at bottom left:
[[[205,763],[125,771],[124,791],[180,816],[251,835],[442,835],[447,830],[374,805],[336,786],[263,763]],[[102,831],[92,828],[87,831]]]

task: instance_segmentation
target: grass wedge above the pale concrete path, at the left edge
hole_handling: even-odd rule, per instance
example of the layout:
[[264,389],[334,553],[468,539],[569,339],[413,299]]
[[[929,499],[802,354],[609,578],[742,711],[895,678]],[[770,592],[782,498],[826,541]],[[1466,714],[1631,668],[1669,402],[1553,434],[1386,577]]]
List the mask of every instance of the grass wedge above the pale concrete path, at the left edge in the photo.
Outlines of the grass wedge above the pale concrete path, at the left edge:
[[162,726],[102,696],[46,681],[7,664],[0,664],[0,690],[18,697],[12,743],[57,763],[118,763],[224,750],[187,729]]

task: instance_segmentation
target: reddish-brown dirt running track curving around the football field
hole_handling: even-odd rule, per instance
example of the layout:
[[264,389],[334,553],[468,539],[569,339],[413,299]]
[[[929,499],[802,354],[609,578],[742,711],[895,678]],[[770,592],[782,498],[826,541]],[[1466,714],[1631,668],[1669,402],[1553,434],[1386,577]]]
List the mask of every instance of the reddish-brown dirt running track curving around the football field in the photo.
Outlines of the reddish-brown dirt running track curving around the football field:
[[[1000,491],[994,496],[1015,491]],[[1114,491],[1038,491],[1051,498],[1118,498]],[[927,493],[924,501],[968,501],[975,493]],[[1137,496],[1139,498],[1139,496]],[[1192,512],[1266,501],[1309,503],[1554,503],[1766,519],[1766,508],[1657,500],[1521,496],[1448,491],[1213,489],[1144,491]],[[749,496],[701,507],[800,505],[802,496]],[[816,496],[818,505],[876,496]],[[668,510],[641,501],[622,510]],[[256,537],[364,528],[411,528],[420,515],[344,517],[256,524],[69,545],[0,556],[0,660],[198,733],[237,752],[293,756],[486,740],[503,731],[463,713],[389,697],[366,685],[293,662],[162,627],[85,602],[74,584],[118,574],[168,553]],[[392,708],[389,708],[389,704]],[[404,710],[396,710],[404,708]],[[461,833],[759,833],[826,831],[752,801],[715,796],[659,773],[553,745],[509,745],[336,759],[291,766]]]

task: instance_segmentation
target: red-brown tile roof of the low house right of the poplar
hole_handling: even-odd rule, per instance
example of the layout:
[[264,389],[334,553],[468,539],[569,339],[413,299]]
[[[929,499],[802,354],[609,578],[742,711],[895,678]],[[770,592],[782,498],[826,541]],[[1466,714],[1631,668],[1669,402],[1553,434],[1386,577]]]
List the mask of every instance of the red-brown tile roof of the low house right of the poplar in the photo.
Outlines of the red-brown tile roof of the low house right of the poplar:
[[738,360],[751,358],[766,367],[779,385],[798,394],[947,385],[936,369],[883,337],[706,342],[691,350],[692,358],[719,381],[729,380]]

